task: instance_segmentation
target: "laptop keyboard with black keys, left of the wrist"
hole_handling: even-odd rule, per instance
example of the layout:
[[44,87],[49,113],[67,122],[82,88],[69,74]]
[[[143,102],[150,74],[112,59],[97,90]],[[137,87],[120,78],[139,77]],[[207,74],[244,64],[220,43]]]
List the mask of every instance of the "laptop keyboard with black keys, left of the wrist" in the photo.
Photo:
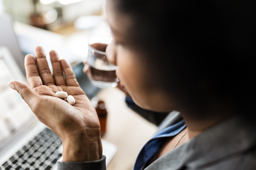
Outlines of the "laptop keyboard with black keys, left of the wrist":
[[60,138],[45,128],[5,162],[0,170],[50,170],[62,156],[58,151],[61,144]]

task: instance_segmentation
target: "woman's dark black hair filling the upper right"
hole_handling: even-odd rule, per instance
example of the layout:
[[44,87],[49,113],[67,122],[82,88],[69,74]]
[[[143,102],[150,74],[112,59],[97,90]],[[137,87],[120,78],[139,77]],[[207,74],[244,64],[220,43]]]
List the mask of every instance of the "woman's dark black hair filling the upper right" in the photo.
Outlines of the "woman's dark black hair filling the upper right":
[[191,108],[211,99],[254,114],[255,0],[113,0],[156,82]]

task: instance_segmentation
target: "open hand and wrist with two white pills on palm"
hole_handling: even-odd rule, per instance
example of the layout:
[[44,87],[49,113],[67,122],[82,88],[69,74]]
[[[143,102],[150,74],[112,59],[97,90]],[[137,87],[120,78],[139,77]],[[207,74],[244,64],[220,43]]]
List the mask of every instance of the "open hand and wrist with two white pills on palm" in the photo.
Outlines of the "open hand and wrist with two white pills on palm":
[[[75,74],[65,60],[50,52],[53,75],[41,47],[25,57],[25,69],[30,87],[11,81],[8,85],[17,90],[36,117],[50,127],[62,140],[63,161],[81,162],[102,158],[100,124],[97,113]],[[64,78],[64,75],[65,78]],[[58,91],[72,95],[76,103],[70,105],[55,96]]]

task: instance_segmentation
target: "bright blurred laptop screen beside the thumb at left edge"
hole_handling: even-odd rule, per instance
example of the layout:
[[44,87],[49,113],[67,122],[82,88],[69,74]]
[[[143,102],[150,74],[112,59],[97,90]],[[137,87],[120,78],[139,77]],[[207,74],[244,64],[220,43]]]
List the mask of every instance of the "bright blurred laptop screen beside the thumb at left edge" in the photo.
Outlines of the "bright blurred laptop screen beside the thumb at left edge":
[[21,96],[8,87],[15,76],[7,65],[0,55],[0,150],[1,144],[35,117]]

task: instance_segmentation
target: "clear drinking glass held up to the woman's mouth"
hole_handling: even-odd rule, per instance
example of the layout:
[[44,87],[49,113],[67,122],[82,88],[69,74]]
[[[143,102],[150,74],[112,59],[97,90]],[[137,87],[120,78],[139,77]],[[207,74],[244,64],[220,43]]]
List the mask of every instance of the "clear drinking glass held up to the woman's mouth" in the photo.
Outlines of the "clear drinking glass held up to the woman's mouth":
[[106,58],[106,47],[112,41],[111,37],[93,36],[88,41],[87,76],[98,88],[116,87],[119,81],[116,77],[117,66]]

